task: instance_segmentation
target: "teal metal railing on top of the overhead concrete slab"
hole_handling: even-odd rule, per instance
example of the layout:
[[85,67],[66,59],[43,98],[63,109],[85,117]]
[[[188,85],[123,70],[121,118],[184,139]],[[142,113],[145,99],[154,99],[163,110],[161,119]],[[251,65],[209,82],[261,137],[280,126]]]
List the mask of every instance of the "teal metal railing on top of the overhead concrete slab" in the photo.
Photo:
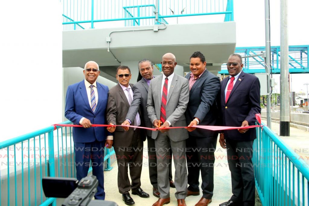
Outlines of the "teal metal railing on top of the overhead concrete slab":
[[[155,22],[156,2],[159,21],[166,18],[222,15],[233,21],[233,0],[63,0],[63,25],[75,25],[65,30],[106,28],[115,26],[146,26]],[[178,19],[177,19],[178,22]],[[79,27],[79,28],[80,28]]]

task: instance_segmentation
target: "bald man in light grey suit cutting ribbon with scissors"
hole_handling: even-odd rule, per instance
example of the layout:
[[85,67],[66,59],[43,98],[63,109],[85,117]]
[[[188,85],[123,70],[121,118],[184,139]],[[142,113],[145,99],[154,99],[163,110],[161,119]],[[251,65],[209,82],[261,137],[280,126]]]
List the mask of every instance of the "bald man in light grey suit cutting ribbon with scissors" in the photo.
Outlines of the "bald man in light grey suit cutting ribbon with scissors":
[[[189,101],[188,79],[174,73],[176,58],[172,53],[162,57],[163,74],[151,80],[148,89],[147,112],[155,128],[185,127],[186,111]],[[160,121],[163,123],[160,126]],[[187,195],[187,166],[185,146],[188,138],[187,130],[163,129],[152,131],[155,139],[158,162],[158,189],[160,198],[153,206],[162,206],[170,202],[170,185],[168,182],[169,147],[171,145],[175,164],[175,186],[178,206],[184,206]]]

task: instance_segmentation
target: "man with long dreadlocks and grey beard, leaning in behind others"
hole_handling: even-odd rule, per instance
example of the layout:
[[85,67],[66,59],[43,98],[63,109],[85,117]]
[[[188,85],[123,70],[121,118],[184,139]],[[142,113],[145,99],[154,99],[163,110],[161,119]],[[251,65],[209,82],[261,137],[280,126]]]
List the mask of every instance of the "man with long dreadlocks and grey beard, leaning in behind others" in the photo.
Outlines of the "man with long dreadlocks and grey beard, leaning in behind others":
[[[138,62],[138,70],[142,75],[142,79],[133,85],[133,101],[130,105],[125,121],[122,125],[132,125],[132,121],[138,113],[138,110],[141,110],[141,120],[144,122],[145,127],[152,128],[152,123],[148,118],[147,113],[147,98],[148,98],[148,88],[150,80],[154,78],[153,76],[153,64],[149,59],[142,59]],[[129,130],[129,127],[124,128],[126,131]],[[157,174],[157,158],[155,152],[155,140],[151,138],[151,130],[147,130],[147,146],[148,146],[148,168],[149,168],[149,179],[150,183],[153,186],[152,194],[156,197],[160,196],[158,190],[158,174]],[[170,150],[170,156],[172,155]],[[170,158],[170,163],[172,159]],[[175,187],[172,180],[172,169],[171,164],[169,164],[168,170],[168,179],[170,180],[170,187]]]

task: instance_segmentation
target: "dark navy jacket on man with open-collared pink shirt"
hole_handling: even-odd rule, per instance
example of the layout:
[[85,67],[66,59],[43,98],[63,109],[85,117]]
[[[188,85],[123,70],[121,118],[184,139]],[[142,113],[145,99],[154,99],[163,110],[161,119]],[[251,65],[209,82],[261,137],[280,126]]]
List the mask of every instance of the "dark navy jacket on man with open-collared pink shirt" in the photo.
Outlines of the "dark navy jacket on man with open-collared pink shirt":
[[[185,78],[190,79],[190,74]],[[214,74],[205,70],[200,78],[195,80],[189,96],[189,103],[186,110],[187,125],[197,117],[199,125],[217,125],[219,120],[219,108],[216,102],[220,92],[220,80]],[[190,135],[195,137],[213,137],[218,132],[196,128]]]

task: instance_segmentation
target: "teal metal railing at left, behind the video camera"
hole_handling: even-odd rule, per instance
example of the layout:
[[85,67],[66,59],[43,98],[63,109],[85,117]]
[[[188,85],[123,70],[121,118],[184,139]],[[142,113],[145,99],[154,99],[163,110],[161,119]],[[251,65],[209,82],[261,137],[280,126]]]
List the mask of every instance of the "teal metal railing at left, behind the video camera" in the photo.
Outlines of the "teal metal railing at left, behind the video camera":
[[[44,196],[42,177],[76,177],[72,129],[54,129],[49,126],[0,142],[0,206],[55,205],[55,198]],[[105,148],[104,153],[105,170],[111,170],[115,152]]]

